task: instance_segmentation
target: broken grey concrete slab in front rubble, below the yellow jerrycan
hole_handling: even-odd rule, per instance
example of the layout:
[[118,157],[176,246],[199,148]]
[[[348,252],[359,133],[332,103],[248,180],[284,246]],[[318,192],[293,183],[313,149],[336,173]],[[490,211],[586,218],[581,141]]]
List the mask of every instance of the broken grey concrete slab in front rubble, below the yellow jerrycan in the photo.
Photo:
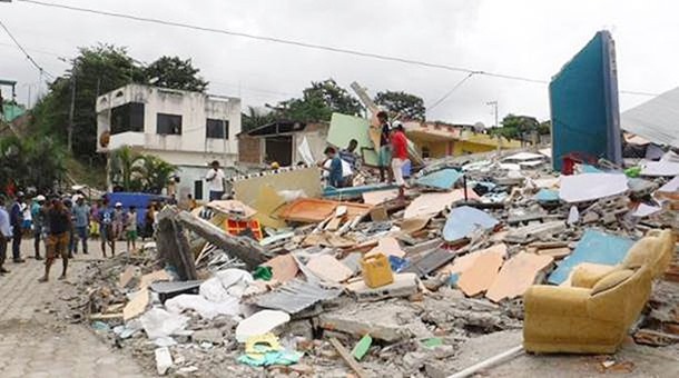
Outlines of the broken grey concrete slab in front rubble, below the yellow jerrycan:
[[395,342],[433,335],[422,322],[417,310],[402,302],[381,301],[345,306],[318,316],[323,329]]

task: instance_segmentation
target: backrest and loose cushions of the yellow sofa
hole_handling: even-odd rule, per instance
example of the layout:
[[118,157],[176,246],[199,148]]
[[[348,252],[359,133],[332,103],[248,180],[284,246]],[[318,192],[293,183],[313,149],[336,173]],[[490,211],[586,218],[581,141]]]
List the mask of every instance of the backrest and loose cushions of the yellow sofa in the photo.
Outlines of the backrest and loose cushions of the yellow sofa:
[[627,252],[624,259],[610,271],[592,271],[587,267],[573,269],[571,286],[577,288],[592,288],[601,278],[611,271],[639,268],[648,265],[653,279],[665,273],[675,253],[677,239],[672,230],[650,230],[639,239]]

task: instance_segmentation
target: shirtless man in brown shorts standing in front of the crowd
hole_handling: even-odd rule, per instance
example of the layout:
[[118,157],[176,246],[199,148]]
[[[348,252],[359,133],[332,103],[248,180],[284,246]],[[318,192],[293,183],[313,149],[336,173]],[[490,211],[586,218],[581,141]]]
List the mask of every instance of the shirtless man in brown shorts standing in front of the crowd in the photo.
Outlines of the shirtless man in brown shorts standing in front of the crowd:
[[52,199],[52,206],[47,211],[47,223],[49,226],[49,235],[47,237],[47,253],[45,261],[45,276],[38,279],[39,282],[49,280],[49,271],[57,256],[61,257],[61,276],[59,279],[66,278],[68,270],[68,243],[69,230],[71,226],[71,212],[63,206],[63,202],[58,198]]

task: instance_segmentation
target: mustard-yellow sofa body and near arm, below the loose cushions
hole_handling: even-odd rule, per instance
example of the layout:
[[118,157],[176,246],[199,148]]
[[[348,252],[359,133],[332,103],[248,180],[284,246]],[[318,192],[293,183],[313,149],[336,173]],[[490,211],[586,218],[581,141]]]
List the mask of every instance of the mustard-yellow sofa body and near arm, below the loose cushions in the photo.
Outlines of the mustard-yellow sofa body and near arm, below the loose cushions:
[[523,296],[523,346],[531,352],[612,354],[651,292],[651,270],[620,269],[593,288],[534,285]]

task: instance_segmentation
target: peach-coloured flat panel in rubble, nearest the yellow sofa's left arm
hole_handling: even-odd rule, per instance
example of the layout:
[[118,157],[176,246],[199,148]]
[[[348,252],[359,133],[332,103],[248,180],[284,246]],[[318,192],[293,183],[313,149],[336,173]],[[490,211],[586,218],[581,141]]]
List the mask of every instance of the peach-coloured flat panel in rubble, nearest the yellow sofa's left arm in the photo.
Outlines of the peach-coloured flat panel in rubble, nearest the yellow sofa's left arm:
[[523,296],[523,292],[535,281],[538,272],[552,261],[550,256],[520,252],[504,262],[485,297],[499,302],[505,298]]

